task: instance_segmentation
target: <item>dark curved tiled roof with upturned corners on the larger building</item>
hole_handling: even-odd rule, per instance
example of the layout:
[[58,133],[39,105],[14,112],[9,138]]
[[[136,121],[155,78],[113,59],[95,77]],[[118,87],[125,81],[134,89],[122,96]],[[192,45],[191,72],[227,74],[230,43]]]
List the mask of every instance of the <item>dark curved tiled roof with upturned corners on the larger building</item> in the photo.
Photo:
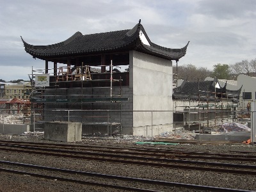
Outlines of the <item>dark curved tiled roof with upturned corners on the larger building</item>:
[[[143,31],[150,45],[145,45],[141,42],[140,31]],[[21,39],[26,52],[34,58],[43,60],[53,57],[61,58],[65,56],[130,50],[145,52],[168,60],[179,60],[186,54],[188,47],[187,44],[181,49],[170,49],[152,43],[140,22],[132,29],[121,31],[90,35],[82,35],[82,33],[76,32],[67,40],[52,45],[30,45],[22,37]]]

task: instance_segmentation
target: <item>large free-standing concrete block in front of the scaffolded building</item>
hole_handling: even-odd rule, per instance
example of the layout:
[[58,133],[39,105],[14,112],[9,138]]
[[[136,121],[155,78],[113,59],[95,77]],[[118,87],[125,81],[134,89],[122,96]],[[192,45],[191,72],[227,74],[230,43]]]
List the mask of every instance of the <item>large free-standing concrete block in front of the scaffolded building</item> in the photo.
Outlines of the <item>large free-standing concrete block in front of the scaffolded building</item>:
[[78,122],[45,122],[44,139],[76,142],[82,140],[82,124]]

